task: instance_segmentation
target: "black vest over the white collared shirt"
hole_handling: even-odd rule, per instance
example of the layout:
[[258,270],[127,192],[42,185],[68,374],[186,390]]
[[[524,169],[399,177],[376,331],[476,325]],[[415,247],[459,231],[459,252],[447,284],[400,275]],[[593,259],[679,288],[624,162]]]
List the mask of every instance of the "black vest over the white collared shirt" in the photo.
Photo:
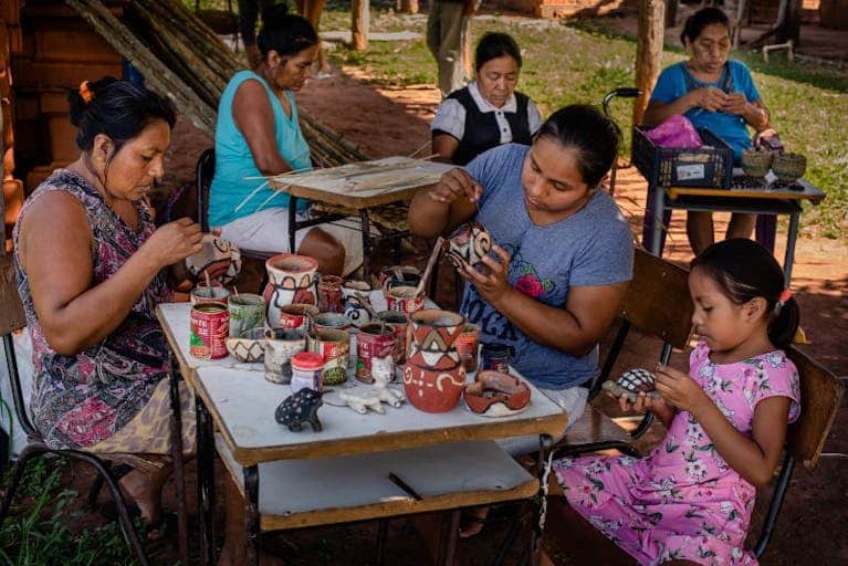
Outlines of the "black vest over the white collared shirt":
[[[501,145],[501,132],[494,112],[480,112],[468,87],[451,93],[448,98],[454,98],[465,108],[465,130],[462,133],[462,139],[459,140],[459,147],[451,159],[454,165],[465,165],[483,151]],[[516,111],[514,113],[504,112],[503,115],[510,124],[512,142],[528,146],[531,143],[527,122],[530,98],[516,92],[515,102]]]

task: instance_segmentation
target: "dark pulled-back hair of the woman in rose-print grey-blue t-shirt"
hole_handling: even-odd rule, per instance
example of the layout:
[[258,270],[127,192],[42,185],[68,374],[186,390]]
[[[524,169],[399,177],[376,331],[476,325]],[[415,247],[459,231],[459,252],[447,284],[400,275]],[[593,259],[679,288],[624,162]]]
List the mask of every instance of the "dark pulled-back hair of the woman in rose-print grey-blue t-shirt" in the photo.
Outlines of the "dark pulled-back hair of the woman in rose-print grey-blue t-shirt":
[[548,137],[563,147],[577,149],[583,181],[595,188],[618,156],[621,133],[616,123],[594,106],[573,104],[553,113],[538,129],[536,139]]

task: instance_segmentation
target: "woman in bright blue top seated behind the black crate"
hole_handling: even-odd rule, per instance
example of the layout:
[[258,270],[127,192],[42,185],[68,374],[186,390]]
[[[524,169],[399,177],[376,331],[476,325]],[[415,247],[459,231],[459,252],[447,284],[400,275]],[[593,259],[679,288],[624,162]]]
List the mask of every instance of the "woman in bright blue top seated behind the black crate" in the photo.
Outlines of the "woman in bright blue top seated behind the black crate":
[[[747,126],[768,127],[770,113],[744,63],[727,60],[730,21],[718,8],[704,8],[689,17],[680,34],[689,60],[666,69],[657,80],[645,113],[648,125],[682,114],[695,126],[709,128],[733,148],[734,160],[751,147]],[[727,238],[750,238],[756,214],[734,213]],[[689,243],[695,255],[714,241],[712,212],[690,210]]]

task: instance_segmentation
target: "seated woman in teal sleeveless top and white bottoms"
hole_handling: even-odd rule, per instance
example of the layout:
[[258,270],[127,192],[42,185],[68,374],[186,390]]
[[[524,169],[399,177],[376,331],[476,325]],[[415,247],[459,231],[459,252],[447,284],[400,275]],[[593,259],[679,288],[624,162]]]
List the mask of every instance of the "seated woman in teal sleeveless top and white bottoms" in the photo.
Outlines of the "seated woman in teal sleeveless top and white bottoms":
[[[262,62],[255,72],[235,73],[218,106],[209,223],[241,248],[284,252],[290,251],[289,196],[261,177],[312,168],[293,93],[310,75],[318,36],[280,4],[263,14],[257,43]],[[346,274],[362,262],[362,239],[348,228],[301,230],[295,245],[297,253],[318,260],[322,273]]]

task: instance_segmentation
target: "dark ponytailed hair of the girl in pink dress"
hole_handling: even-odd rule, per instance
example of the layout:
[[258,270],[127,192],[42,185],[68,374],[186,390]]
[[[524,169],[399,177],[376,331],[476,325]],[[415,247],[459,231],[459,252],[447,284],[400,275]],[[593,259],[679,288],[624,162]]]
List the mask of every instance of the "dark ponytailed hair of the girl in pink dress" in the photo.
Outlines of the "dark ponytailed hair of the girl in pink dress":
[[770,313],[768,339],[778,348],[792,344],[798,329],[800,308],[793,297],[781,301],[783,270],[768,250],[752,240],[732,238],[701,252],[692,261],[692,270],[695,268],[715,281],[734,304],[765,298]]

